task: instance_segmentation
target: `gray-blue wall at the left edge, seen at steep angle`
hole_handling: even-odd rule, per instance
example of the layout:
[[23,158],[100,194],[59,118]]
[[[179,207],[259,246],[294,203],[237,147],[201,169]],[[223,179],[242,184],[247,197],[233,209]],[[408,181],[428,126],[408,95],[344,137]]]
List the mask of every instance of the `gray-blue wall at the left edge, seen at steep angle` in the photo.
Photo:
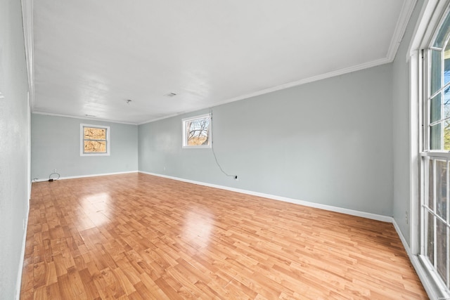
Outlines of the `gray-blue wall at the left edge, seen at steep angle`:
[[14,299],[28,209],[28,79],[20,1],[0,1],[0,298]]

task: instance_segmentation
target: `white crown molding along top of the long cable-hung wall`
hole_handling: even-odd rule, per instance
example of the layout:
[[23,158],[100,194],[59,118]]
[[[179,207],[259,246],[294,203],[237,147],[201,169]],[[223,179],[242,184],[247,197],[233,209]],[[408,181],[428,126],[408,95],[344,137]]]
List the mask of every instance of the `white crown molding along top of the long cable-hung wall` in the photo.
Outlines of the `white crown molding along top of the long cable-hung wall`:
[[340,75],[351,73],[351,72],[361,71],[361,70],[364,70],[364,69],[368,69],[370,67],[377,67],[378,65],[385,65],[387,63],[392,63],[392,60],[390,60],[389,58],[381,58],[379,60],[373,60],[373,61],[371,61],[369,63],[362,63],[360,65],[354,65],[352,67],[345,67],[345,68],[340,69],[340,70],[336,70],[336,71],[333,71],[333,72],[328,72],[328,73],[325,73],[325,74],[316,75],[316,76],[309,77],[309,78],[306,78],[306,79],[301,79],[301,80],[297,80],[297,81],[291,81],[291,82],[288,82],[286,84],[281,84],[279,86],[274,86],[274,87],[269,88],[269,89],[264,89],[264,90],[261,90],[261,91],[255,91],[253,93],[247,93],[247,94],[245,94],[243,96],[238,96],[238,97],[230,98],[230,99],[227,99],[227,100],[224,100],[224,101],[219,101],[217,103],[214,103],[211,106],[200,107],[200,108],[196,108],[195,110],[187,110],[185,112],[181,112],[181,113],[174,114],[174,115],[169,115],[167,117],[162,117],[162,118],[158,118],[158,119],[150,119],[150,120],[148,120],[146,122],[138,123],[138,125],[147,124],[147,123],[151,123],[151,122],[156,122],[156,121],[160,121],[162,119],[168,119],[168,118],[176,117],[176,116],[179,116],[179,115],[184,115],[184,114],[186,114],[188,112],[195,112],[197,110],[204,110],[204,109],[210,108],[210,107],[217,107],[219,105],[224,105],[226,103],[231,103],[231,102],[235,102],[235,101],[238,101],[238,100],[244,100],[244,99],[248,99],[248,98],[252,98],[252,97],[256,97],[256,96],[261,96],[261,95],[264,95],[266,93],[271,93],[271,92],[274,92],[274,91],[280,91],[280,90],[283,90],[283,89],[291,88],[293,86],[300,86],[302,84],[309,84],[310,82],[319,81],[319,80],[323,80],[323,79],[328,79],[328,78],[331,78],[331,77],[336,77],[336,76],[340,76]]

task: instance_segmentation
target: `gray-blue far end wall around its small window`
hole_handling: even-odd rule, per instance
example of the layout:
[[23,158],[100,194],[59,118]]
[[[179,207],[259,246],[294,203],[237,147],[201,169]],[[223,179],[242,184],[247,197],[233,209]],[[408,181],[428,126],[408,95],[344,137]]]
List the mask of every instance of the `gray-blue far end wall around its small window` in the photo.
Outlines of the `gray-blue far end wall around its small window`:
[[[80,156],[80,124],[110,126],[109,156]],[[31,176],[46,179],[138,170],[138,126],[32,114]]]

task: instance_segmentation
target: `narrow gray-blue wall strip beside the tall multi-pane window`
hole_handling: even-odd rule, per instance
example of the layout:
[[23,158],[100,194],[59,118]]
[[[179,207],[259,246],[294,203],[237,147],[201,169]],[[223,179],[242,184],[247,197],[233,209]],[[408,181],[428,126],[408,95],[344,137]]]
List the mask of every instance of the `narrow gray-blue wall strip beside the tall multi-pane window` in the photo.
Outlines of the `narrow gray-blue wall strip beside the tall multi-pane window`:
[[[394,63],[392,64],[392,115],[393,115],[393,167],[394,167],[394,202],[393,216],[403,233],[406,242],[410,242],[409,222],[406,223],[405,214],[411,219],[410,214],[410,162],[409,148],[411,141],[409,131],[411,121],[409,110],[411,98],[409,95],[409,63],[406,63],[406,52],[408,51],[411,38],[416,27],[420,9],[423,1],[418,1],[411,15],[409,25],[406,28],[404,38],[401,41]],[[418,183],[417,183],[418,184]]]

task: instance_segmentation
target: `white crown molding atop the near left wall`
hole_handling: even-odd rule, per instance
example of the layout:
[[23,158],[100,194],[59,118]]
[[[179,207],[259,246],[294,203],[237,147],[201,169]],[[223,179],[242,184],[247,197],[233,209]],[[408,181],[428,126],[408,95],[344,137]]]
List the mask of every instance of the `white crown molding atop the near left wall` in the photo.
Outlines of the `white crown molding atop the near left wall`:
[[23,35],[25,39],[25,59],[27,61],[30,109],[34,107],[34,44],[33,44],[33,0],[22,0]]

